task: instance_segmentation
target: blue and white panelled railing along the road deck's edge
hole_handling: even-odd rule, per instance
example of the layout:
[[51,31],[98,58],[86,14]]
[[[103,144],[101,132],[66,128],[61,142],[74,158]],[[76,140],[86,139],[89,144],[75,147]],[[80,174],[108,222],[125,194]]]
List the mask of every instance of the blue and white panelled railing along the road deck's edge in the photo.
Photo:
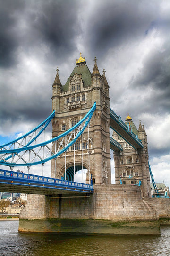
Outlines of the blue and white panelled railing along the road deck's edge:
[[7,177],[7,178],[13,178],[17,179],[20,181],[28,181],[28,182],[38,182],[38,183],[51,183],[51,184],[56,184],[56,185],[64,185],[64,186],[69,186],[69,187],[77,187],[77,188],[82,188],[82,189],[92,189],[93,190],[93,185],[91,184],[86,184],[86,183],[79,183],[79,182],[72,182],[72,181],[67,181],[67,180],[60,180],[60,179],[55,179],[55,178],[50,178],[50,177],[45,177],[45,176],[39,176],[39,175],[34,175],[34,174],[25,174],[25,173],[19,173],[19,172],[14,172],[14,171],[8,171],[8,170],[2,170],[0,169],[0,176]]

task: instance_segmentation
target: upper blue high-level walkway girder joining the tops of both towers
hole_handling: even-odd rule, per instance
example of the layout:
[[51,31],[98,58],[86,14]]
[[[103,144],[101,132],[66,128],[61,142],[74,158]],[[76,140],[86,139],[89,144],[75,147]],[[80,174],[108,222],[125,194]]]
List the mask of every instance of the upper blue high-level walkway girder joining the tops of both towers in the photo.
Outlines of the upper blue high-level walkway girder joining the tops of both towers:
[[121,117],[117,116],[115,112],[111,109],[110,128],[118,133],[119,136],[126,140],[135,149],[144,147],[138,137],[132,131],[129,131],[127,125],[121,120]]

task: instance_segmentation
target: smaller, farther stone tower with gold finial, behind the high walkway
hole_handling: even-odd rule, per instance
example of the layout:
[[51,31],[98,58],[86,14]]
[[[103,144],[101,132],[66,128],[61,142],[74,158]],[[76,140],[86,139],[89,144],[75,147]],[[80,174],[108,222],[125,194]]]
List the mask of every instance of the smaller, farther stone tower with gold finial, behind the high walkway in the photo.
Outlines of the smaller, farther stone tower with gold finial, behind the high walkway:
[[141,121],[137,130],[132,118],[127,115],[125,124],[142,141],[144,148],[134,149],[117,133],[113,132],[113,138],[118,141],[123,151],[114,151],[115,181],[116,184],[141,183],[143,197],[151,197],[150,174],[148,166],[147,135]]

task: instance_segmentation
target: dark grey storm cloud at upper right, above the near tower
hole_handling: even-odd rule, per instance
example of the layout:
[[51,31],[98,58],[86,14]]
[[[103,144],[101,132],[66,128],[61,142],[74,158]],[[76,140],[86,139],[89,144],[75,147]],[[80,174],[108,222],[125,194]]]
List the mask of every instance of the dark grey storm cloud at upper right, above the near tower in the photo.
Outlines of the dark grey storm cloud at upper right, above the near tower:
[[154,26],[159,17],[158,1],[99,1],[94,13],[87,18],[87,43],[99,54],[110,47],[126,46],[138,41]]

